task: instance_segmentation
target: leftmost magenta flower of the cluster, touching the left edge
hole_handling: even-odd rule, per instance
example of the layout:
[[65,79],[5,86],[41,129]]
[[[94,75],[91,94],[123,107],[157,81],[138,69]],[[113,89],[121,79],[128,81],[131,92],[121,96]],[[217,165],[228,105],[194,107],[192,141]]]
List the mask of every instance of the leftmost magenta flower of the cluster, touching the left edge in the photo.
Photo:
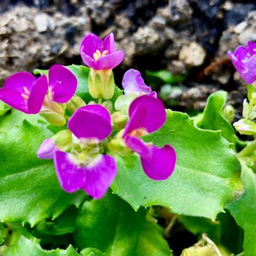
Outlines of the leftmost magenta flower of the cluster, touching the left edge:
[[47,92],[49,100],[65,103],[73,96],[76,87],[75,75],[61,65],[54,65],[49,69],[49,82],[45,75],[38,79],[27,72],[11,75],[0,89],[0,99],[26,114],[37,114]]

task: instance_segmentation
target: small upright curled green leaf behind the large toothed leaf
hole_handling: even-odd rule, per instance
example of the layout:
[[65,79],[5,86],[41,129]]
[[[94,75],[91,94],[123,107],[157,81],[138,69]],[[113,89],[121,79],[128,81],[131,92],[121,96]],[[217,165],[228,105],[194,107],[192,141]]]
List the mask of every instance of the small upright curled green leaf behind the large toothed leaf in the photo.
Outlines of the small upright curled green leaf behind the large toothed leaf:
[[224,117],[223,108],[226,104],[227,92],[214,92],[207,100],[201,121],[197,126],[201,129],[218,131],[221,130],[222,136],[233,143],[236,143],[236,134],[234,128]]

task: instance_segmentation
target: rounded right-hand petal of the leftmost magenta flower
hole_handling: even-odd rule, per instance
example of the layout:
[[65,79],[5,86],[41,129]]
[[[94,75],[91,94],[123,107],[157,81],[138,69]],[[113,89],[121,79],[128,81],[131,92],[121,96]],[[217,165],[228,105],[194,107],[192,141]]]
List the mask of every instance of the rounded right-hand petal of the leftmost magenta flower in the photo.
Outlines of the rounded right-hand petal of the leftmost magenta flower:
[[49,69],[49,88],[53,93],[53,101],[65,103],[75,94],[77,79],[66,67],[54,65]]

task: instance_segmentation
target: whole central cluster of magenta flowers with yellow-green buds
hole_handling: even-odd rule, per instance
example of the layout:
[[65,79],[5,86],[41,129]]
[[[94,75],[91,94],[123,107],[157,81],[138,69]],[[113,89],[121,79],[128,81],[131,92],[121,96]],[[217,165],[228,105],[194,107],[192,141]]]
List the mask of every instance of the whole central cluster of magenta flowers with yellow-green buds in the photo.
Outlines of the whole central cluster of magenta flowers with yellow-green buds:
[[156,92],[144,83],[139,71],[130,69],[123,77],[124,94],[115,100],[113,111],[112,69],[124,58],[123,51],[115,49],[114,35],[103,42],[94,34],[86,35],[80,53],[90,67],[88,92],[98,104],[86,104],[74,95],[77,79],[61,65],[49,69],[48,79],[46,75],[36,78],[26,72],[15,73],[0,89],[0,99],[13,108],[39,113],[55,126],[64,126],[67,121],[67,127],[42,142],[38,158],[54,160],[65,191],[84,189],[95,199],[104,196],[117,175],[115,154],[135,152],[148,177],[168,179],[176,163],[172,146],[158,148],[141,139],[166,121],[164,105]]

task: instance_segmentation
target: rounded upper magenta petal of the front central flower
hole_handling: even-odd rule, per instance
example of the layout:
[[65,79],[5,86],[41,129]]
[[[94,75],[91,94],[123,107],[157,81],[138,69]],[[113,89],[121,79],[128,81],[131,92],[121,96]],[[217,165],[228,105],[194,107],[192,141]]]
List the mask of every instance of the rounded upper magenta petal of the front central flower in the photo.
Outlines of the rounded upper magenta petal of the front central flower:
[[67,126],[81,138],[105,139],[112,131],[108,110],[98,104],[79,108],[69,119]]

